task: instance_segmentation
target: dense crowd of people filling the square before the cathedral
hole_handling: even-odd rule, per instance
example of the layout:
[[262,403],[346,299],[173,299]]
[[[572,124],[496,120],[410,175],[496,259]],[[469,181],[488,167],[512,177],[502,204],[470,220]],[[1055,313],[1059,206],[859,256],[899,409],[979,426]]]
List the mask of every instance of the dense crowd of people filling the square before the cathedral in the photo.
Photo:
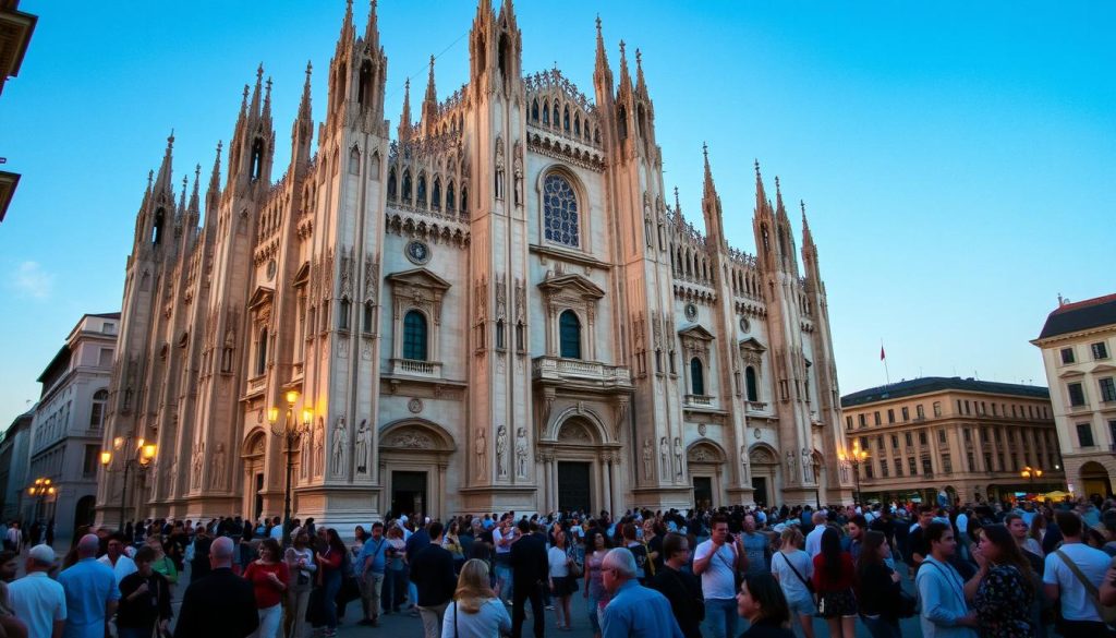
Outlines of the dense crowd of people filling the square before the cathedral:
[[413,514],[346,540],[312,518],[147,521],[65,556],[17,540],[0,638],[328,637],[355,601],[359,625],[410,613],[424,638],[519,638],[528,606],[536,638],[551,610],[595,638],[815,638],[815,618],[895,638],[914,617],[927,638],[1100,638],[1116,621],[1116,502],[1099,499]]

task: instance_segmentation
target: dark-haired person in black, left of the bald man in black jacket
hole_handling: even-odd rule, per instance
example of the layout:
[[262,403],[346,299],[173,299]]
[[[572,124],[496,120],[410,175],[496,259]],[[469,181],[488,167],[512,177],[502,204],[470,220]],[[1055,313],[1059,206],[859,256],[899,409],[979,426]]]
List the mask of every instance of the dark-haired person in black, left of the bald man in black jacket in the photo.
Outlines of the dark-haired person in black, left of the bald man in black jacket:
[[152,569],[155,551],[140,547],[135,561],[136,571],[121,580],[119,638],[151,638],[156,623],[162,635],[171,622],[171,583]]

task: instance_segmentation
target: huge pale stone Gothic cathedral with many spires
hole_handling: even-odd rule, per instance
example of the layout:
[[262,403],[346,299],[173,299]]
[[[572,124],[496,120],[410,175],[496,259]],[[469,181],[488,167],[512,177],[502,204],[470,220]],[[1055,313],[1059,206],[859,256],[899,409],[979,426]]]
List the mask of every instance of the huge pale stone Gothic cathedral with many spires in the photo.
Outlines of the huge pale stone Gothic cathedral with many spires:
[[376,2],[360,29],[349,0],[281,177],[262,68],[204,197],[200,166],[176,192],[167,140],[105,435],[157,453],[102,473],[98,522],[281,515],[288,482],[294,515],[344,529],[847,499],[805,206],[800,273],[757,163],[757,254],[729,246],[706,153],[699,230],[664,189],[639,53],[614,75],[598,20],[588,97],[525,74],[522,46],[511,0],[479,0],[468,83],[440,99],[432,58],[417,123],[408,93],[393,126]]

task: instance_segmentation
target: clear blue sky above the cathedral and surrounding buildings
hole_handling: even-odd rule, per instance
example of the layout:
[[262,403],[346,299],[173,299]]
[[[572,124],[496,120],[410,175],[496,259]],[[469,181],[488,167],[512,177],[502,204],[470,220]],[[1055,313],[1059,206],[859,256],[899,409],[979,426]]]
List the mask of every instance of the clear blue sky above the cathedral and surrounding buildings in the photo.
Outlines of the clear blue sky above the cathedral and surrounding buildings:
[[[499,4],[499,2],[496,2]],[[0,225],[0,427],[39,396],[83,313],[119,310],[147,171],[212,166],[243,85],[273,77],[276,178],[307,59],[315,115],[343,0],[23,0],[39,16],[0,96],[0,156],[22,181]],[[523,69],[593,95],[594,18],[609,60],[643,50],[667,189],[699,226],[708,141],[730,241],[754,251],[753,159],[805,199],[841,392],[978,375],[1045,384],[1038,335],[1059,293],[1116,292],[1116,3],[520,0]],[[363,31],[367,2],[357,0]],[[468,76],[472,0],[383,0],[386,115]],[[795,207],[797,210],[797,206]],[[797,215],[792,215],[798,228]],[[800,244],[800,240],[799,240]]]

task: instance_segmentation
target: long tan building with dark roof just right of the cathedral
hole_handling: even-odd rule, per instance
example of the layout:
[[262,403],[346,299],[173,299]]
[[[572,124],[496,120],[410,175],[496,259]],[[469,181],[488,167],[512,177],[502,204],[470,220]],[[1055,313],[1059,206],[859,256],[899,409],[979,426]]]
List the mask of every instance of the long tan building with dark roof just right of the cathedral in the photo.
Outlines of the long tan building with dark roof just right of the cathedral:
[[934,503],[944,492],[969,503],[1066,486],[1046,388],[926,377],[847,394],[841,408],[845,453],[868,453],[864,501]]

